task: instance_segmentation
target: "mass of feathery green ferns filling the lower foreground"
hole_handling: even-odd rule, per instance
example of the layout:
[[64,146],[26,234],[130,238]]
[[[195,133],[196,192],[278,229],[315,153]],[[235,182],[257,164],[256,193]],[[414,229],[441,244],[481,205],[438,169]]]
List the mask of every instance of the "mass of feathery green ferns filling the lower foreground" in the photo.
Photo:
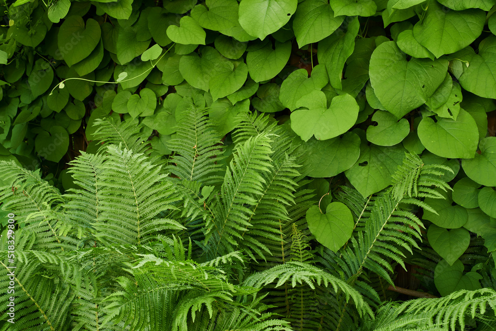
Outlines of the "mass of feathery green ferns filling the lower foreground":
[[170,160],[151,155],[137,120],[107,119],[97,121],[98,152],[70,163],[77,188],[62,193],[39,172],[0,163],[2,209],[17,223],[14,280],[7,230],[0,239],[0,288],[15,290],[15,324],[11,294],[0,293],[0,331],[494,325],[491,289],[404,304],[377,293],[376,279],[392,284],[392,265],[419,247],[410,206],[430,208],[422,199],[449,189],[438,179],[449,169],[408,154],[390,188],[364,199],[342,187],[335,198],[355,228],[333,252],[310,234],[305,213],[319,197],[287,125],[242,112],[221,141],[208,110],[184,102]]

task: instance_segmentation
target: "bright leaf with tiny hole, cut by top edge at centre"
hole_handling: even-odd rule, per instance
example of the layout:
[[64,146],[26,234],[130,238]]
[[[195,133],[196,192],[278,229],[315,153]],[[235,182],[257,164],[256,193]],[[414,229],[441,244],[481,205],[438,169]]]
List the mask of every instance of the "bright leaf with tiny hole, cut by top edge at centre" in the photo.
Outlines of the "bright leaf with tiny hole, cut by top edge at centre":
[[261,40],[288,23],[298,0],[242,0],[239,21],[249,35]]

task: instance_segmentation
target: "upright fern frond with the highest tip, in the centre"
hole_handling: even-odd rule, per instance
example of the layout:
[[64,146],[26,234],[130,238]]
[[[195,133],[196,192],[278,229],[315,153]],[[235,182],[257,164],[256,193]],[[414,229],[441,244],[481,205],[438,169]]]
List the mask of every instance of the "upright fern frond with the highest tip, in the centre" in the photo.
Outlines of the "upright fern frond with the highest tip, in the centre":
[[206,109],[189,102],[178,121],[176,138],[169,141],[175,164],[167,169],[182,180],[211,185],[222,181],[222,167],[217,163],[222,155],[218,134],[206,114]]

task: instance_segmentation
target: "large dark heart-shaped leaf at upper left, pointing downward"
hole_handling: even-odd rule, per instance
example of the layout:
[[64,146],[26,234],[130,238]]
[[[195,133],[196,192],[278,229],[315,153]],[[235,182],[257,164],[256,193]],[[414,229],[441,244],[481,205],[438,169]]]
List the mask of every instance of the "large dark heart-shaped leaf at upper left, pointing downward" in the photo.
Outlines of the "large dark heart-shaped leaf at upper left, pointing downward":
[[85,26],[81,16],[69,16],[59,30],[58,52],[67,66],[72,66],[91,54],[101,35],[100,24],[94,19],[88,18]]

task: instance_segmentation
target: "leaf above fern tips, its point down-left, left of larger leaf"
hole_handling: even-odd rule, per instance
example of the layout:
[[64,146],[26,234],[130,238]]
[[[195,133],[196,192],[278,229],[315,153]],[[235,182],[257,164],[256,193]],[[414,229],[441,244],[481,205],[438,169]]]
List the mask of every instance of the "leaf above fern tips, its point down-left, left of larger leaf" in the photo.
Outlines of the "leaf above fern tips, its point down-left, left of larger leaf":
[[233,71],[233,67],[222,66],[210,78],[210,93],[214,100],[223,98],[239,90],[248,77],[248,66],[242,62]]

